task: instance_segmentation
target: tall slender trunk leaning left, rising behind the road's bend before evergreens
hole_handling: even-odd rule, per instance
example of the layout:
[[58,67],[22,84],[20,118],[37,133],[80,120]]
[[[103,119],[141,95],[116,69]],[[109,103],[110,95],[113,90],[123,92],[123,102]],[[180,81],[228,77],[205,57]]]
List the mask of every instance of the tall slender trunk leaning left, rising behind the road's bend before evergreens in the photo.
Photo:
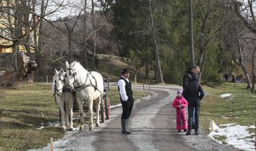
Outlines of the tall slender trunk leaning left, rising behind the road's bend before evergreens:
[[163,83],[164,80],[162,79],[162,71],[161,71],[161,65],[160,65],[160,58],[158,54],[158,44],[156,41],[156,33],[154,29],[154,20],[153,20],[153,14],[152,14],[152,5],[151,0],[150,2],[150,19],[151,19],[151,27],[152,27],[152,33],[153,33],[153,39],[154,39],[154,54],[155,54],[155,60],[156,60],[156,82],[157,83]]

